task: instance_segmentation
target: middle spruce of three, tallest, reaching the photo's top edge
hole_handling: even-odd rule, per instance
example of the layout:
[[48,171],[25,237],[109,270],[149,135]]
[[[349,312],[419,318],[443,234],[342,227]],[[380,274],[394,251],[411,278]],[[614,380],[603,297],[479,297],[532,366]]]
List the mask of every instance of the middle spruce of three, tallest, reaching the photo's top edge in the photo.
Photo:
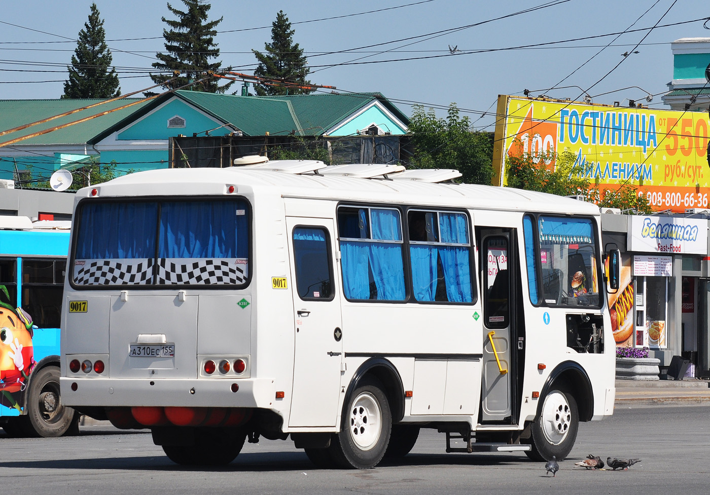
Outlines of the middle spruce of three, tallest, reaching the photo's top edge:
[[[222,22],[222,17],[214,21],[207,21],[207,11],[212,7],[202,0],[181,0],[187,9],[185,12],[173,9],[168,3],[168,10],[178,17],[178,20],[166,19],[170,30],[163,29],[165,38],[165,53],[156,53],[155,57],[160,62],[153,63],[153,67],[163,71],[179,71],[182,75],[172,82],[173,75],[151,74],[151,79],[156,84],[163,84],[165,89],[175,89],[185,86],[191,81],[206,77],[207,71],[217,72],[222,62],[209,63],[209,59],[219,57],[219,48],[214,43],[214,28]],[[231,67],[227,67],[230,70]],[[219,86],[215,78],[208,79],[189,88],[192,91],[207,91],[209,93],[224,93],[234,81]]]

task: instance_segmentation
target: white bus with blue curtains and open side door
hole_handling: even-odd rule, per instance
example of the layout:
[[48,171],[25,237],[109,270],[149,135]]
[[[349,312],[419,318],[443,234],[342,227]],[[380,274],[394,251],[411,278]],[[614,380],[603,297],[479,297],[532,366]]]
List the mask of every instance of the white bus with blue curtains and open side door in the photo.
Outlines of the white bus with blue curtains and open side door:
[[185,465],[261,435],[365,469],[420,428],[563,459],[613,412],[599,208],[459,175],[283,161],[80,190],[65,404]]

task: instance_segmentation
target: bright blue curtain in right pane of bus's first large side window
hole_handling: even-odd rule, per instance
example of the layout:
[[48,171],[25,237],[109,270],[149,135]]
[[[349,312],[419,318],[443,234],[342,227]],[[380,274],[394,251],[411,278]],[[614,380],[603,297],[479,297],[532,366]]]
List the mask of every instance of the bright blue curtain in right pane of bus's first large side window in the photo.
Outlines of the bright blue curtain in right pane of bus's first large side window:
[[402,245],[391,243],[369,244],[369,260],[377,287],[377,299],[403,301],[405,299]]

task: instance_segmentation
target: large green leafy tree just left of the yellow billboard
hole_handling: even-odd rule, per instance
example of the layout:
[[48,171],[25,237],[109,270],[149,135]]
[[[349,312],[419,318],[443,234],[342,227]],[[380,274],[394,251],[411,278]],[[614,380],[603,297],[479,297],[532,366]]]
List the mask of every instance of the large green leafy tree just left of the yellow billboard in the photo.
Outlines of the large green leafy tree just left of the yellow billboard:
[[462,182],[491,184],[493,143],[488,133],[471,130],[468,117],[459,116],[456,104],[447,118],[437,118],[433,109],[415,106],[410,119],[416,168],[458,169]]

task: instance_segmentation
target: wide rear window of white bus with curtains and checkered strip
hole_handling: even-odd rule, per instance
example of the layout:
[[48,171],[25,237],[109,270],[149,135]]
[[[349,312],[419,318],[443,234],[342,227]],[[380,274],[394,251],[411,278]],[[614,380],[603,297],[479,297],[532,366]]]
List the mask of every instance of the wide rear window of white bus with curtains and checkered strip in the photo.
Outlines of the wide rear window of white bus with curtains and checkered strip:
[[244,285],[246,201],[84,204],[77,220],[77,286]]

